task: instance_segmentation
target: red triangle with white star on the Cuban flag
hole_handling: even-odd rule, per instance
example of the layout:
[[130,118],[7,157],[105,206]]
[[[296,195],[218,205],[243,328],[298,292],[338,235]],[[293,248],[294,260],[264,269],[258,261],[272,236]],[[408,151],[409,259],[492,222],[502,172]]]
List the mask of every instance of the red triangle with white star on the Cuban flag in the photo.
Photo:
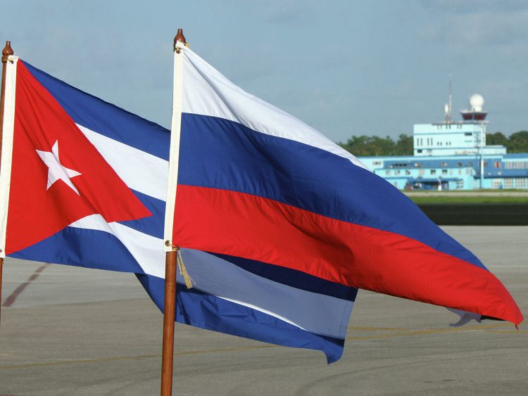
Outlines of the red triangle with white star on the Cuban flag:
[[20,61],[15,94],[6,254],[89,215],[106,222],[151,216]]

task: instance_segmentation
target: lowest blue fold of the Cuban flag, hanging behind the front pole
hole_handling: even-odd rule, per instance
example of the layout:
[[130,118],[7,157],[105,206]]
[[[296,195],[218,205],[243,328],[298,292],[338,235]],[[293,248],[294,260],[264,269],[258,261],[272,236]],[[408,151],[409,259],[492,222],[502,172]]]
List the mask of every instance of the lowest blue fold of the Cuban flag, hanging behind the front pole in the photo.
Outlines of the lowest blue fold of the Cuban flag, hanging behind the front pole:
[[[145,274],[137,274],[137,278],[163,312],[164,279]],[[344,340],[341,338],[310,333],[256,309],[194,288],[187,289],[180,283],[176,290],[176,321],[180,323],[265,343],[322,350],[328,363],[336,362],[343,353]]]

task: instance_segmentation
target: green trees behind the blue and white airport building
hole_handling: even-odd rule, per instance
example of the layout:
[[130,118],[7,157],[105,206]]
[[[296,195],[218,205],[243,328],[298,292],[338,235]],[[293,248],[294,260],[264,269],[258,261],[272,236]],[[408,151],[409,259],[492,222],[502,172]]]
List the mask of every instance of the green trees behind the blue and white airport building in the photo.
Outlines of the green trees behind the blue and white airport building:
[[[413,155],[413,136],[401,134],[397,140],[386,136],[352,136],[339,146],[357,157],[377,155]],[[520,131],[509,137],[502,132],[486,134],[486,145],[506,146],[508,153],[528,153],[528,131]]]

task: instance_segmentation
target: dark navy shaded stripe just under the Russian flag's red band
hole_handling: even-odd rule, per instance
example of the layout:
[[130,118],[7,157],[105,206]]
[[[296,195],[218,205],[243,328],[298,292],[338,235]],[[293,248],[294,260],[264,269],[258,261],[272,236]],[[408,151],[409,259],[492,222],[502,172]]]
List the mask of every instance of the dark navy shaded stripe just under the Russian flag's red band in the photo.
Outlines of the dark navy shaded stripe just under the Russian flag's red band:
[[259,262],[256,260],[248,260],[243,257],[220,255],[215,253],[210,254],[231,262],[232,264],[237,265],[237,267],[245,269],[247,272],[251,272],[252,274],[262,276],[263,278],[270,279],[271,281],[282,283],[287,286],[310,291],[312,293],[330,295],[332,297],[341,298],[342,300],[348,301],[355,301],[356,295],[358,294],[357,288],[351,288],[349,286],[341,285],[340,283],[334,283],[325,279],[320,279],[317,276],[296,271],[295,269],[279,267],[278,265]]

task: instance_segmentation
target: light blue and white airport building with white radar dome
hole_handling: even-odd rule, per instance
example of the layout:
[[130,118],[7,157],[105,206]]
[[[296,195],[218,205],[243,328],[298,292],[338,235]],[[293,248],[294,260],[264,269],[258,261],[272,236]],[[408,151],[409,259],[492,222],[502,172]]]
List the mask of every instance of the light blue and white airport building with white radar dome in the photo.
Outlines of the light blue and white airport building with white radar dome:
[[463,120],[415,124],[414,155],[361,157],[372,172],[398,189],[528,189],[528,153],[508,154],[505,146],[486,146],[484,98],[470,97]]

